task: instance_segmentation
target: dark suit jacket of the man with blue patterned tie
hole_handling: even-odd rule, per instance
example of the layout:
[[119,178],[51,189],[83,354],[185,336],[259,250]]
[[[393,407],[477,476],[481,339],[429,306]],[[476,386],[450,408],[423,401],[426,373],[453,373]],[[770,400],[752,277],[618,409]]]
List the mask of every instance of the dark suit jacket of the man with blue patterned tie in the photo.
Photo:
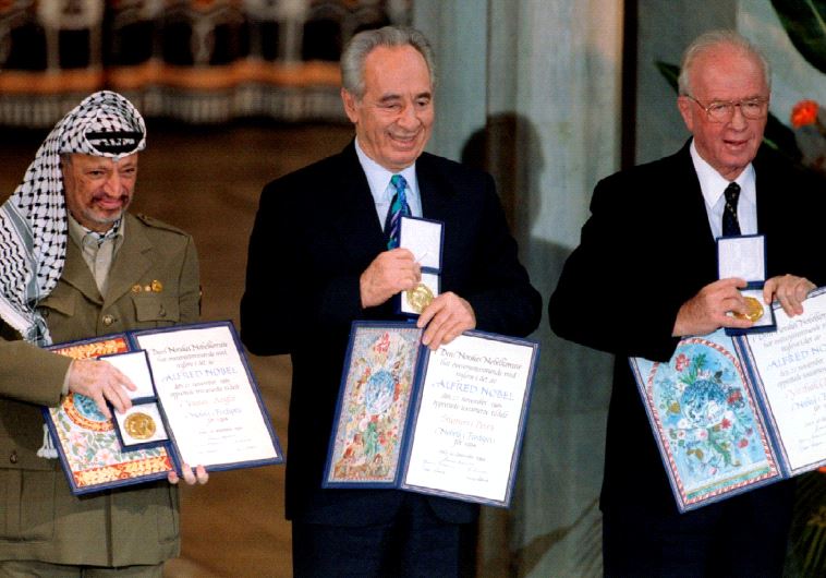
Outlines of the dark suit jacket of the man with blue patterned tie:
[[[542,300],[517,258],[493,179],[428,154],[416,161],[416,176],[424,216],[445,222],[441,290],[471,303],[478,329],[518,336],[535,329]],[[390,520],[400,503],[396,491],[320,487],[351,323],[399,318],[393,300],[361,306],[359,278],[386,244],[352,143],[262,193],[241,339],[253,353],[292,357],[290,519],[371,525]],[[428,499],[448,521],[471,521],[477,511],[452,499]]]

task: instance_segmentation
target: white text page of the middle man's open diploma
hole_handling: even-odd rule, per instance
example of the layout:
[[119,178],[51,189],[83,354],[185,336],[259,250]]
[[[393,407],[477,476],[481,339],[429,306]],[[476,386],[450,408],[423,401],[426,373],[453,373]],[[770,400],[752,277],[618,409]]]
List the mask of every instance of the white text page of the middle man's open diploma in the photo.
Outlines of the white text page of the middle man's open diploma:
[[534,353],[482,335],[430,353],[404,486],[507,503]]

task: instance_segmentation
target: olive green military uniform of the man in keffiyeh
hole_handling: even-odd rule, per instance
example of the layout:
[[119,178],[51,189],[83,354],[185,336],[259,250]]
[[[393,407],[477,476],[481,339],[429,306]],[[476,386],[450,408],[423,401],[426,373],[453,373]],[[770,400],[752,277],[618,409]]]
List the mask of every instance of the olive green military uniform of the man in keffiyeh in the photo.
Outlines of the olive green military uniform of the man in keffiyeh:
[[[192,238],[126,215],[124,239],[98,291],[81,249],[66,241],[65,266],[40,303],[53,342],[198,318]],[[137,290],[151,286],[160,291]],[[9,327],[3,327],[9,337]],[[0,559],[130,566],[178,555],[178,494],[168,482],[75,497],[59,460],[37,457],[42,405],[57,406],[69,360],[0,339]]]

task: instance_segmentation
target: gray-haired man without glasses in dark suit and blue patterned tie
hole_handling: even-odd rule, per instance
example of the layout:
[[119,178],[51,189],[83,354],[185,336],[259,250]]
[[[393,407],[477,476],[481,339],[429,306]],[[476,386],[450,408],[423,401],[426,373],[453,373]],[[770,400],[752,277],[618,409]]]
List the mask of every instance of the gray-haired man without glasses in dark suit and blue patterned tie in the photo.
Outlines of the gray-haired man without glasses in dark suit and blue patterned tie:
[[287,516],[294,571],[465,575],[477,506],[321,489],[351,323],[401,318],[393,298],[420,281],[414,255],[388,249],[398,208],[445,224],[441,291],[417,320],[424,345],[436,349],[473,328],[527,335],[542,302],[493,179],[423,152],[434,122],[434,67],[422,34],[393,26],[360,33],[341,69],[355,140],[264,189],[241,302],[250,351],[292,358]]

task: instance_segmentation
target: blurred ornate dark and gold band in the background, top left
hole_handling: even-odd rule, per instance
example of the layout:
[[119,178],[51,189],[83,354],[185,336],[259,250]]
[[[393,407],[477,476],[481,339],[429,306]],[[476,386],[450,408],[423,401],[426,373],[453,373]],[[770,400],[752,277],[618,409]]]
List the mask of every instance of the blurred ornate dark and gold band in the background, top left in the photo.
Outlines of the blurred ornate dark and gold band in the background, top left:
[[46,127],[99,88],[145,115],[341,120],[338,58],[410,0],[5,0],[0,124]]

